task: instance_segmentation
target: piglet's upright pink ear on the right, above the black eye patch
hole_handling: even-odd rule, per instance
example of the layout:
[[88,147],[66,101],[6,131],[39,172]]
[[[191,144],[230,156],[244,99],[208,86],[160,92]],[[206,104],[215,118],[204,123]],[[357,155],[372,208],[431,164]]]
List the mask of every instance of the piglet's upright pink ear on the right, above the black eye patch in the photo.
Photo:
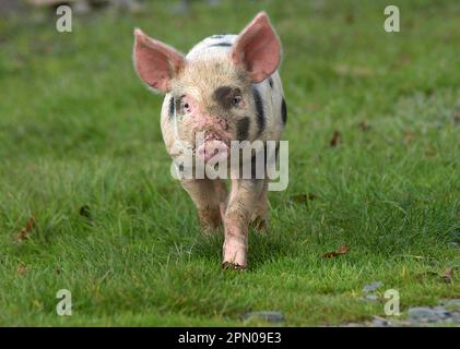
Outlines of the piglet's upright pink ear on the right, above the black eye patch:
[[281,60],[281,44],[267,13],[258,13],[238,35],[232,60],[245,67],[253,83],[260,83],[276,70]]

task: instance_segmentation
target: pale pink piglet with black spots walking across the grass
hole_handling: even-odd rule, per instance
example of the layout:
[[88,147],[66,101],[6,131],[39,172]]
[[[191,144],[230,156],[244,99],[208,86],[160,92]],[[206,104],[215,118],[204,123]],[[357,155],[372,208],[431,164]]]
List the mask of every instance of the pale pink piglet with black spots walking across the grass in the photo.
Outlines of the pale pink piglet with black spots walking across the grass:
[[[166,94],[161,125],[173,158],[178,156],[178,143],[204,163],[213,157],[229,163],[232,141],[279,142],[286,122],[280,59],[280,40],[266,13],[239,35],[213,35],[185,57],[135,31],[137,72],[149,87]],[[197,134],[202,134],[199,142]],[[222,179],[181,180],[203,230],[210,233],[224,225],[225,267],[247,266],[248,227],[266,224],[268,181],[255,174],[231,177],[228,194]]]

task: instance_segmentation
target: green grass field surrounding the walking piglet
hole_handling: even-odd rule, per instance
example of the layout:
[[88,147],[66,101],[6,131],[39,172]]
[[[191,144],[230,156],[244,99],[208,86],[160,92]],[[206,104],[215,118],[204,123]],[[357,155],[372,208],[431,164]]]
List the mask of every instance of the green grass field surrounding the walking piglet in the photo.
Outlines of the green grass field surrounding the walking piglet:
[[[264,324],[249,311],[340,325],[385,316],[385,301],[361,299],[374,280],[379,297],[399,290],[402,318],[459,298],[458,270],[429,273],[460,264],[460,3],[392,3],[392,34],[387,1],[193,2],[188,14],[153,1],[142,15],[75,16],[67,34],[52,14],[1,17],[0,325]],[[270,229],[250,232],[249,269],[234,273],[169,174],[132,29],[187,51],[262,9],[284,46],[290,185],[270,194]],[[56,314],[59,289],[72,316]]]

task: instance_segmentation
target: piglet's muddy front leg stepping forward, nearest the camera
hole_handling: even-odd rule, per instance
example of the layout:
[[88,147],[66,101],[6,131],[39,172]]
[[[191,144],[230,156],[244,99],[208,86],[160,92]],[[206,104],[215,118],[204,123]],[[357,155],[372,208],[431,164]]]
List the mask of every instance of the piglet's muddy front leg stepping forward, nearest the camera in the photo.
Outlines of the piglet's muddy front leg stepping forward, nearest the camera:
[[263,180],[232,180],[225,213],[224,268],[244,269],[247,266],[248,227],[262,190]]

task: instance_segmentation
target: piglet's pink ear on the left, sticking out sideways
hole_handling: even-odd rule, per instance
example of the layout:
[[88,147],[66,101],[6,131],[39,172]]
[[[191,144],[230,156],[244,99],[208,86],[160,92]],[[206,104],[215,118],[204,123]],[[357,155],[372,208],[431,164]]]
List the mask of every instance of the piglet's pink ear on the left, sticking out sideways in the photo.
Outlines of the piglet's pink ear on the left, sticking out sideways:
[[152,88],[168,93],[170,80],[185,64],[184,56],[141,29],[135,29],[134,36],[134,67],[139,76]]

